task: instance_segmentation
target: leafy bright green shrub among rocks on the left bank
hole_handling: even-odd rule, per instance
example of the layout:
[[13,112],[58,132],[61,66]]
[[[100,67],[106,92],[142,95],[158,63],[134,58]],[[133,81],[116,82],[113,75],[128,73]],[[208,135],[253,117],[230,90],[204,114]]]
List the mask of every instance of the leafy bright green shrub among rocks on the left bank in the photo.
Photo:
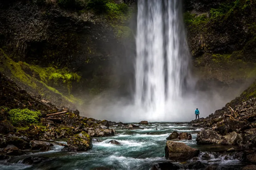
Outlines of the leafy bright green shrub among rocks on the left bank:
[[8,112],[9,119],[14,126],[26,126],[32,123],[38,123],[41,116],[40,111],[31,111],[29,109],[12,109]]

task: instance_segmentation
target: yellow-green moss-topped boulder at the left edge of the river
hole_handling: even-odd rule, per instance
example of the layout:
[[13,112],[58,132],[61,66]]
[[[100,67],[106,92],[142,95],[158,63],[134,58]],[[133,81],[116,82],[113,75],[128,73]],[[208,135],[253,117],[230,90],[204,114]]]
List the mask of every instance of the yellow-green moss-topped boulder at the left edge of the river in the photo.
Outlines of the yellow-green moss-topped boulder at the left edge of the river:
[[92,148],[92,139],[85,131],[70,137],[67,143],[69,151],[87,151]]

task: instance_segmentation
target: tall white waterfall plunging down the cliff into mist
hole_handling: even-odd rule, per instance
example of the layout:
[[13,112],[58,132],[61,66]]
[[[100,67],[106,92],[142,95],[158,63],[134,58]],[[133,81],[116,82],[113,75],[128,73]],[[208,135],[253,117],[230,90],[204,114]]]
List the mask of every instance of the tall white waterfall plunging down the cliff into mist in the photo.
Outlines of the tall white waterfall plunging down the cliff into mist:
[[189,52],[181,0],[139,0],[135,103],[152,119],[180,101]]

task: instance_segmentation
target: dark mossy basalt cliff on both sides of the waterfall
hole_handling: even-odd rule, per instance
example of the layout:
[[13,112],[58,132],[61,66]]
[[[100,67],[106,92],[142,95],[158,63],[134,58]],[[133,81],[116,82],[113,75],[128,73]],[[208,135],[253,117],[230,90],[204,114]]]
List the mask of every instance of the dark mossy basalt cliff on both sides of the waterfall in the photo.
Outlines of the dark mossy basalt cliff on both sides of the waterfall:
[[[109,89],[130,96],[136,4],[136,0],[0,2],[0,71],[57,105],[75,107],[74,103],[86,103]],[[241,87],[235,97],[255,79],[255,5],[253,0],[184,0],[198,89]]]

